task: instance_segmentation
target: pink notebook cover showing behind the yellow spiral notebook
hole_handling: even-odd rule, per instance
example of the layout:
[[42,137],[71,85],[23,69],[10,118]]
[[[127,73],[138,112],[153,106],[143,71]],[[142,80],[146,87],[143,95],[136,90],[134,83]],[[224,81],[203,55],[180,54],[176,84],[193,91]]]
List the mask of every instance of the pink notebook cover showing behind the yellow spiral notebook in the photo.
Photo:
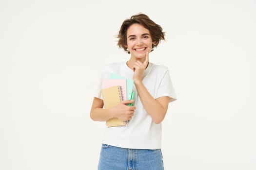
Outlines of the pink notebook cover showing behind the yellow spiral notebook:
[[121,86],[121,91],[122,91],[122,97],[123,100],[127,100],[127,94],[126,94],[126,79],[105,79],[103,80],[103,88],[108,88],[112,87],[115,85],[120,85]]

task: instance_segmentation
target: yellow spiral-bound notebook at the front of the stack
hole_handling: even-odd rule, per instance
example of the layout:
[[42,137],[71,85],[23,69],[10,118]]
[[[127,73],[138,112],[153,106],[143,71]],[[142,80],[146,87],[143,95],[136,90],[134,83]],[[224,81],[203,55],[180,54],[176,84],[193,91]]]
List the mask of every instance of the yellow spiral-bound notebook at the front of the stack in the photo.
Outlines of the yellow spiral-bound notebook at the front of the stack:
[[[110,109],[118,105],[119,102],[123,101],[122,99],[122,90],[120,85],[115,85],[112,87],[104,88],[101,90],[104,108]],[[118,118],[112,118],[107,120],[107,126],[126,126],[126,122]]]

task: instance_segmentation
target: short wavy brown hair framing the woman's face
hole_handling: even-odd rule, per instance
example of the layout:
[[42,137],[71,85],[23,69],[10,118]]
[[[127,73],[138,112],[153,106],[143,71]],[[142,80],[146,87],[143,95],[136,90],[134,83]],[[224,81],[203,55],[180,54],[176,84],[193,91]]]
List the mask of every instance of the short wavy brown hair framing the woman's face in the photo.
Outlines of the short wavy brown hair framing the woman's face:
[[160,40],[165,40],[164,39],[165,33],[162,31],[162,27],[160,25],[156,24],[153,20],[151,20],[145,14],[140,13],[140,14],[134,15],[130,19],[125,19],[123,21],[117,36],[119,48],[123,48],[123,50],[126,51],[127,53],[130,53],[127,47],[125,47],[125,45],[127,45],[127,38],[126,38],[127,30],[132,24],[135,24],[135,23],[141,24],[143,27],[149,30],[151,34],[152,42],[154,42],[154,44],[152,44],[151,51],[153,51],[154,48],[158,46]]

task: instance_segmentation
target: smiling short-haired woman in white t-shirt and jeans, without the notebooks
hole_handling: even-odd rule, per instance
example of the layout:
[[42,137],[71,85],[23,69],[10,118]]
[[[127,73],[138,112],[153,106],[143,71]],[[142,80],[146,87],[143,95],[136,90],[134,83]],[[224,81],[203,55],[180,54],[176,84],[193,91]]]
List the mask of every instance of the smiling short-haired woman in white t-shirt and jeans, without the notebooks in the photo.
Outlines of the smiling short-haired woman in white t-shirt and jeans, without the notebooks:
[[[149,52],[160,40],[164,40],[162,28],[144,14],[134,15],[122,23],[118,46],[130,54],[130,59],[103,68],[90,116],[95,121],[129,120],[129,124],[106,127],[98,170],[163,170],[161,122],[168,103],[176,100],[176,95],[168,69],[149,62]],[[134,80],[135,100],[103,109],[101,83],[110,73]],[[128,106],[129,103],[133,106]]]

